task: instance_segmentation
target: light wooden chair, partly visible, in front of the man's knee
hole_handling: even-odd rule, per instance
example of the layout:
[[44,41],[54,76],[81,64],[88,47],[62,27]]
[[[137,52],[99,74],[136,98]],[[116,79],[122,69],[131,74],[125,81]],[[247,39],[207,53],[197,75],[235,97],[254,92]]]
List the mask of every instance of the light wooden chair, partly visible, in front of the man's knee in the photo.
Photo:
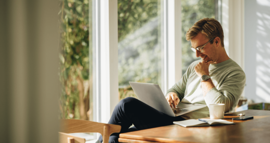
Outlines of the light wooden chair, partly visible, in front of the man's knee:
[[70,135],[75,132],[99,132],[102,135],[103,142],[109,142],[110,134],[120,132],[121,126],[115,124],[106,124],[88,120],[79,119],[61,119],[60,120],[60,143],[84,143],[85,138]]

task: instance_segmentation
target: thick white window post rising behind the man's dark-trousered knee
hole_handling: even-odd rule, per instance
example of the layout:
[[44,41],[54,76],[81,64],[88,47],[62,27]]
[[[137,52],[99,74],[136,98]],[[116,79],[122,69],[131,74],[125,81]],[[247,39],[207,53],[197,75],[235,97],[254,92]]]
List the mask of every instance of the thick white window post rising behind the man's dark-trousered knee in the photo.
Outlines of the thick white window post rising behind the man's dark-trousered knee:
[[118,103],[117,0],[93,0],[92,11],[93,120],[107,123]]

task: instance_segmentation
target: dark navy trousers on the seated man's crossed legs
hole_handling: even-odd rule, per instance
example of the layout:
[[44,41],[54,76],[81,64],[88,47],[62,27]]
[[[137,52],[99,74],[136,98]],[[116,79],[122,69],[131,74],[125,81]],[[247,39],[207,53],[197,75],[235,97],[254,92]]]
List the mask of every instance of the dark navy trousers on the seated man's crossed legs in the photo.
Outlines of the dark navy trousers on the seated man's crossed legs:
[[[119,133],[112,133],[109,142],[118,142],[120,133],[171,125],[173,121],[179,120],[184,118],[169,116],[136,98],[127,97],[121,100],[112,112],[108,123],[121,125],[121,130]],[[134,126],[129,128],[132,124]],[[101,135],[98,139],[102,142]]]

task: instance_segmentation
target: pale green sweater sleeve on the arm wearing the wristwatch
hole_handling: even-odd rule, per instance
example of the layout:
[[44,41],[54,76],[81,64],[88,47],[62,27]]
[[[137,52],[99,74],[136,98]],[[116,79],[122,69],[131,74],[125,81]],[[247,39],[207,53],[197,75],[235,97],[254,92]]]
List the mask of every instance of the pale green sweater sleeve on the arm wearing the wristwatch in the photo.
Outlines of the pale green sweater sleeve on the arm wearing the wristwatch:
[[209,104],[224,103],[225,112],[232,111],[244,90],[245,74],[243,71],[235,71],[230,73],[222,82],[222,85],[217,89],[216,87],[210,89],[204,100]]

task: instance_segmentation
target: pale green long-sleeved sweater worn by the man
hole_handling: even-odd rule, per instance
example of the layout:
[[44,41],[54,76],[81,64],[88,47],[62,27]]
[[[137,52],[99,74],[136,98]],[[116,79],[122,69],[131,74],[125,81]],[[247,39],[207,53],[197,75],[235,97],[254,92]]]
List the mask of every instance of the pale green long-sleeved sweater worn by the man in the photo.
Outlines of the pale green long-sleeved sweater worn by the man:
[[[167,94],[169,92],[175,92],[183,103],[204,105],[225,103],[225,112],[232,112],[244,90],[245,73],[231,59],[218,64],[211,64],[209,66],[209,75],[215,87],[210,89],[205,97],[203,97],[200,77],[194,70],[194,67],[199,62],[201,60],[193,62],[188,67],[182,79],[169,89]],[[186,113],[182,117],[185,119],[209,117],[209,108],[204,107]]]

